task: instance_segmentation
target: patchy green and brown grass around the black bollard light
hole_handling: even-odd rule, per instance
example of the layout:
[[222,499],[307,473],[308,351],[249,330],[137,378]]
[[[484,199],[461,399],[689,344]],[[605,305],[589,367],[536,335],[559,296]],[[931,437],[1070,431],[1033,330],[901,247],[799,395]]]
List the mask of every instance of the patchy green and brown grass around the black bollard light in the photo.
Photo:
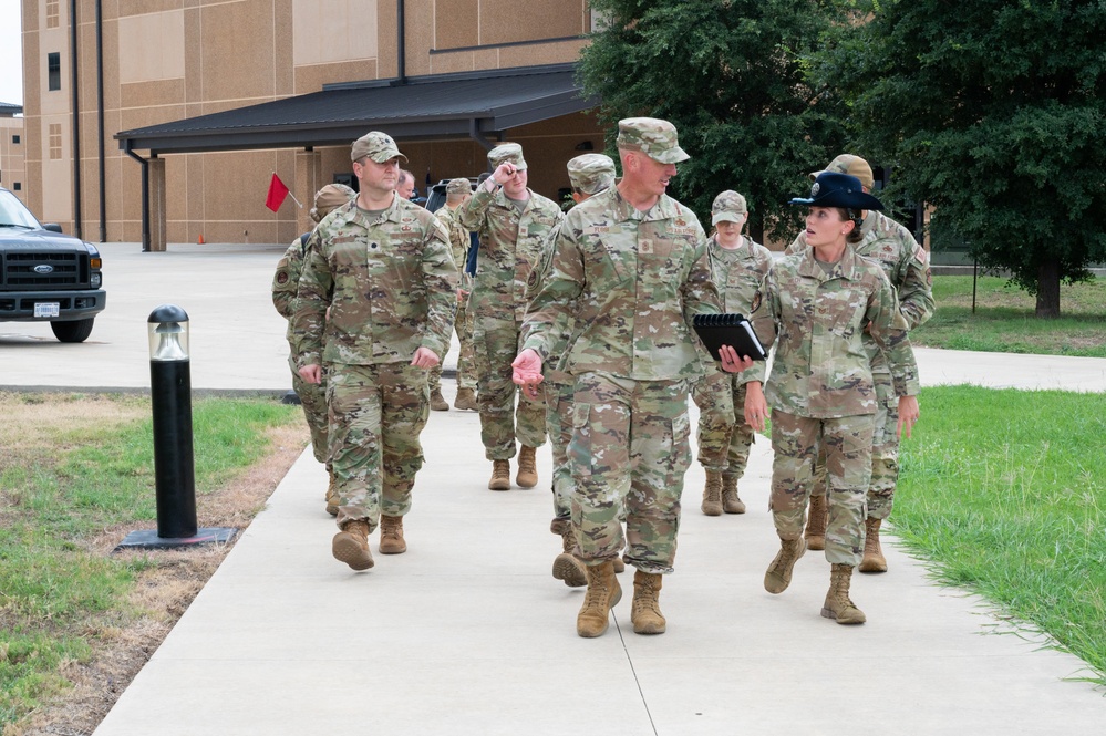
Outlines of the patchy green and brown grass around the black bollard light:
[[[158,563],[92,548],[106,529],[149,528],[157,518],[148,400],[95,401],[110,411],[60,422],[0,458],[0,730],[63,692],[65,665],[87,660],[100,632],[143,614],[130,595],[137,574]],[[197,496],[266,455],[268,427],[298,417],[298,407],[276,401],[196,402]]]

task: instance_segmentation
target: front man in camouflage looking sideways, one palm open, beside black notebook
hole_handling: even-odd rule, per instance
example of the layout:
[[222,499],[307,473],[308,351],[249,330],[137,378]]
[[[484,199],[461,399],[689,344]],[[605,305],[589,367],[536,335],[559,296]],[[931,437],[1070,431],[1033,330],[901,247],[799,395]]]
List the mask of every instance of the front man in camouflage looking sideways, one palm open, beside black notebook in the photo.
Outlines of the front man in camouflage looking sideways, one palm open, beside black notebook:
[[[721,304],[695,214],[664,191],[689,158],[666,121],[619,122],[622,179],[569,210],[552,265],[530,303],[515,381],[537,392],[541,366],[571,323],[558,367],[576,379],[572,526],[587,566],[580,636],[599,636],[622,591],[613,559],[637,568],[631,620],[639,634],[666,622],[658,598],[672,572],[680,495],[691,464],[688,392],[704,373],[696,313]],[[626,502],[626,533],[619,506]]]

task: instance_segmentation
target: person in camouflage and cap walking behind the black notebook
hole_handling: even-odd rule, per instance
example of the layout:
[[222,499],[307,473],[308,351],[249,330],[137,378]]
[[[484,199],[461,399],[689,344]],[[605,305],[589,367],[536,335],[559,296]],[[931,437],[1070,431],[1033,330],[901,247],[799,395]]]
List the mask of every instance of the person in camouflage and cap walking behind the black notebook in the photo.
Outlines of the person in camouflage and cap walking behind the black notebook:
[[[723,311],[746,315],[772,268],[772,252],[741,234],[747,219],[745,197],[733,190],[723,191],[711,207],[711,222],[716,232],[706,245],[711,277],[722,298]],[[706,469],[702,505],[706,516],[745,512],[737,481],[745,475],[754,440],[753,427],[744,418],[747,380],[742,373],[728,374],[711,365],[692,392],[700,408],[699,462]]]

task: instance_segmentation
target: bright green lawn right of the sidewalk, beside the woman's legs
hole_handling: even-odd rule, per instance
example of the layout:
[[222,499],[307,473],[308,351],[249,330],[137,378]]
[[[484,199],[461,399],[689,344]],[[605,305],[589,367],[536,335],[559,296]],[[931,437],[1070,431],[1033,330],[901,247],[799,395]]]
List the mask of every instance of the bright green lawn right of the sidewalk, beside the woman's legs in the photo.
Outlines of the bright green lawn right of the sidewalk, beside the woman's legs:
[[1106,395],[942,386],[921,402],[895,532],[1106,685]]

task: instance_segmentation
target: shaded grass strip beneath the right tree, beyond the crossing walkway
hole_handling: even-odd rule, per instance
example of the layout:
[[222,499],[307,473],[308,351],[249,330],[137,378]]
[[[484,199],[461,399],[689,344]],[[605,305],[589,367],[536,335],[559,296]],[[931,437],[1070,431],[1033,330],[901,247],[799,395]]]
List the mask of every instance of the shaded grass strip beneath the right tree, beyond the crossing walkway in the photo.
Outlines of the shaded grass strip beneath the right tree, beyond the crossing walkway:
[[1106,357],[1106,279],[1061,287],[1061,314],[1034,317],[1034,297],[998,277],[933,278],[933,318],[910,333],[926,348]]

